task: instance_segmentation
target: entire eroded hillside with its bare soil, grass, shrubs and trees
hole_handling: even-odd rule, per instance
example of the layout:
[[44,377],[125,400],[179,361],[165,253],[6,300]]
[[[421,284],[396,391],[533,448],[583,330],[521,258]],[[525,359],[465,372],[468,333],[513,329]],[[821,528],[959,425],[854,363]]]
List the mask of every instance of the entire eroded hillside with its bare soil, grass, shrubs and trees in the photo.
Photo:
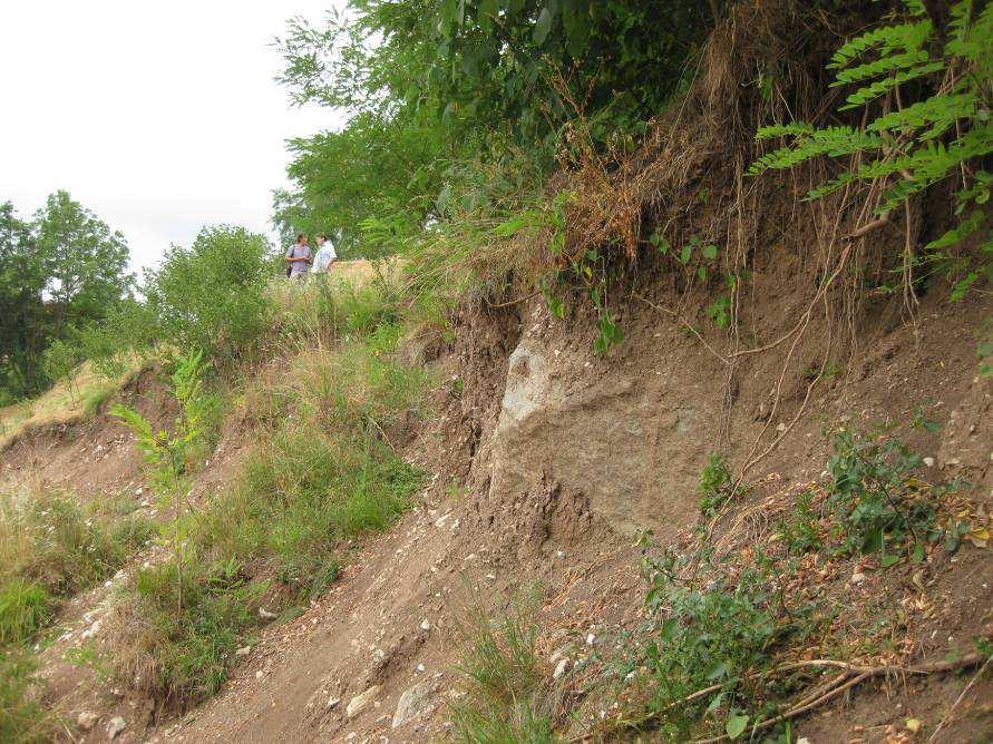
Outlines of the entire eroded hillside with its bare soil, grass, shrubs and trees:
[[[991,38],[967,0],[290,21],[281,81],[349,118],[274,221],[370,261],[283,281],[207,226],[57,302],[39,264],[0,740],[985,741]],[[79,245],[57,207],[126,255],[61,195],[4,207],[0,276]]]

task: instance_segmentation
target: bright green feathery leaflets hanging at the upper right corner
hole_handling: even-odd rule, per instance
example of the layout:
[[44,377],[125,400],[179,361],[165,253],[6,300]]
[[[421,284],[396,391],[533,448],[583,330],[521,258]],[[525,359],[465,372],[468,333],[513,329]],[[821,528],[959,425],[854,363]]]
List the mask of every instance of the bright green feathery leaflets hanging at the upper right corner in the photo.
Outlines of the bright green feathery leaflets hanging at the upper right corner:
[[[960,192],[955,213],[962,214],[970,204],[985,204],[990,189],[976,165],[993,153],[993,123],[986,105],[993,77],[993,6],[987,3],[974,18],[971,0],[953,3],[941,55],[935,53],[938,35],[923,3],[908,1],[905,8],[905,22],[856,37],[828,65],[837,71],[833,86],[856,86],[839,110],[864,108],[867,123],[860,127],[815,128],[802,121],[763,127],[757,139],[789,141],[752,163],[750,175],[794,168],[820,157],[858,155],[860,161],[853,159],[847,170],[810,189],[806,199],[824,198],[841,188],[882,188],[875,211],[882,215],[961,174],[966,187]],[[874,104],[882,96],[892,104]],[[953,301],[985,277],[993,280],[993,257],[982,248],[952,251],[977,228],[974,219],[975,213],[924,248],[923,261],[944,273]],[[979,219],[985,224],[985,213]],[[908,264],[900,271],[907,272]]]

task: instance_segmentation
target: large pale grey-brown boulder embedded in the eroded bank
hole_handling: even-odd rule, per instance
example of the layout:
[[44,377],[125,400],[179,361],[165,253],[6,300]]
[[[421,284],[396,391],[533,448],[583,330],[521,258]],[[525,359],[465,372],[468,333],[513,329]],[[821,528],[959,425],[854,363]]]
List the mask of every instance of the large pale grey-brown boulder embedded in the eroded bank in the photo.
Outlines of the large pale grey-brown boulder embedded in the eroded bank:
[[522,337],[493,438],[490,496],[535,497],[554,482],[630,532],[689,518],[695,505],[675,495],[695,489],[705,417],[684,390],[666,390],[666,374],[604,374],[597,363]]

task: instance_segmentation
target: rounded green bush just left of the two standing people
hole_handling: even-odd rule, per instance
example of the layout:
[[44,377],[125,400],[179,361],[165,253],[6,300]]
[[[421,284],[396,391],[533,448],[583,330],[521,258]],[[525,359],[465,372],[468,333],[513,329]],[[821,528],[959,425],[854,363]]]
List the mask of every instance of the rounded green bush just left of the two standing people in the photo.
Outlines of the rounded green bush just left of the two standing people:
[[270,325],[265,286],[272,247],[244,227],[205,227],[193,246],[173,246],[145,277],[160,339],[224,363],[251,358]]

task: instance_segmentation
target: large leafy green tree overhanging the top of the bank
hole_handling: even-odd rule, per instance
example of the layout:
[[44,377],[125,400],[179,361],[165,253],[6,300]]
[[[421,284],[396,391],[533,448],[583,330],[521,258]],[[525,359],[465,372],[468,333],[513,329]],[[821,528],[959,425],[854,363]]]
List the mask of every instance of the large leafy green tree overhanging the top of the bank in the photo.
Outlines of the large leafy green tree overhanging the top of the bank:
[[294,102],[352,118],[290,143],[296,188],[275,194],[274,222],[376,255],[446,205],[491,204],[522,164],[556,166],[577,109],[601,141],[658,115],[724,4],[351,0],[323,23],[294,19],[275,42],[281,81]]

